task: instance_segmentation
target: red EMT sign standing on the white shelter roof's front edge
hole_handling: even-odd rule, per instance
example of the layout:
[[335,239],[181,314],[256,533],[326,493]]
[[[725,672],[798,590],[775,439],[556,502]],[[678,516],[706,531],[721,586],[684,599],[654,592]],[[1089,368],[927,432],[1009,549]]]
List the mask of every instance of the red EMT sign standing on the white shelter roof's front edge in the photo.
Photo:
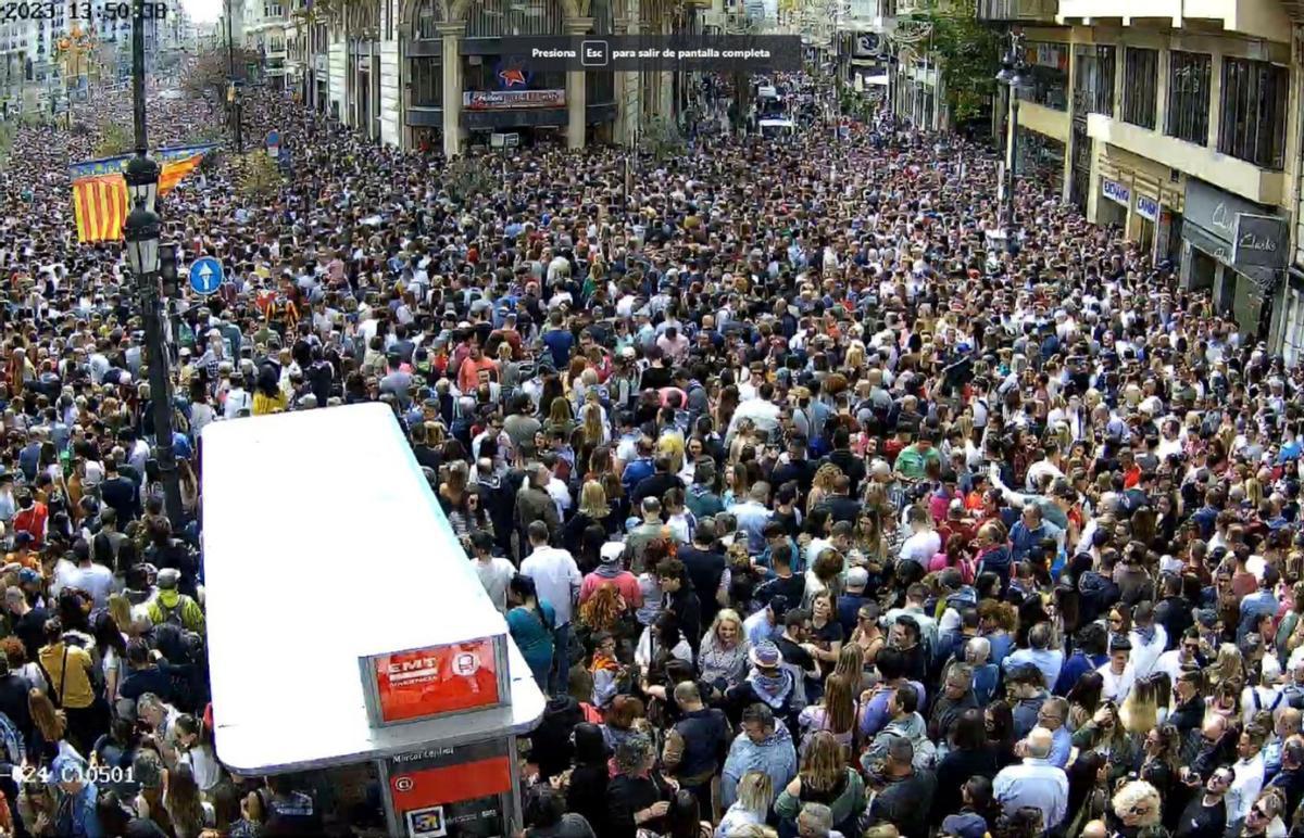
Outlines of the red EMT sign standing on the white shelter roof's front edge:
[[493,639],[370,658],[376,721],[412,722],[502,704]]

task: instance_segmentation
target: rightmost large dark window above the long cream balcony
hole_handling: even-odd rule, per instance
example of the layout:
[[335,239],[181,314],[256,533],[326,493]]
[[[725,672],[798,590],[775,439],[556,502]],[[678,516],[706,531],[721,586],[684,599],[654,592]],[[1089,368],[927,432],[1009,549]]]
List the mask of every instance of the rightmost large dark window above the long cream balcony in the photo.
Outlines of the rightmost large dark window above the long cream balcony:
[[1284,66],[1223,59],[1218,151],[1262,168],[1283,168],[1288,86]]

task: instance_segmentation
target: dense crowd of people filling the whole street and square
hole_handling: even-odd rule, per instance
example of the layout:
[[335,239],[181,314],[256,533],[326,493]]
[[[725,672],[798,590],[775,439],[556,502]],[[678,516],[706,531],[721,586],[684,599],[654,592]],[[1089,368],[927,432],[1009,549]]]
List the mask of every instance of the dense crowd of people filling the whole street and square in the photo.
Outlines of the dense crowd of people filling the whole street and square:
[[171,318],[183,520],[133,279],[72,224],[95,130],[21,129],[0,830],[383,822],[218,760],[197,477],[210,422],[378,400],[549,695],[529,838],[1304,834],[1304,370],[1045,185],[994,237],[990,150],[777,83],[782,142],[469,188],[254,93],[284,182],[160,201],[228,274]]

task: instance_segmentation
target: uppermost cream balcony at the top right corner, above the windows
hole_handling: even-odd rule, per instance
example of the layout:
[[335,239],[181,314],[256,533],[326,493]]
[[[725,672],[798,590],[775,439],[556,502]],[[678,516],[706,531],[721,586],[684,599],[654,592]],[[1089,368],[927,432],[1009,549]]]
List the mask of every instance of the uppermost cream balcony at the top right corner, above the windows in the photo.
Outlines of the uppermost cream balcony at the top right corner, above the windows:
[[1162,21],[1181,29],[1184,21],[1211,21],[1223,31],[1266,40],[1290,40],[1291,21],[1279,0],[1059,0],[1059,23],[1090,26],[1101,20],[1123,26]]

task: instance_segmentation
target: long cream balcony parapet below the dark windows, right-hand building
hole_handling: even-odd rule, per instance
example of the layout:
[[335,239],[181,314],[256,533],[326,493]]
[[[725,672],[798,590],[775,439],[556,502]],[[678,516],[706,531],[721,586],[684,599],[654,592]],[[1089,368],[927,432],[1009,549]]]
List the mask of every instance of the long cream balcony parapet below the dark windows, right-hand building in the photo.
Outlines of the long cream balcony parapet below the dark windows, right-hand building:
[[[1020,123],[1022,121],[1020,119]],[[1253,163],[1219,154],[1206,146],[1197,146],[1103,113],[1088,115],[1086,133],[1093,139],[1149,158],[1257,203],[1281,205],[1287,197],[1284,172],[1258,168]]]

